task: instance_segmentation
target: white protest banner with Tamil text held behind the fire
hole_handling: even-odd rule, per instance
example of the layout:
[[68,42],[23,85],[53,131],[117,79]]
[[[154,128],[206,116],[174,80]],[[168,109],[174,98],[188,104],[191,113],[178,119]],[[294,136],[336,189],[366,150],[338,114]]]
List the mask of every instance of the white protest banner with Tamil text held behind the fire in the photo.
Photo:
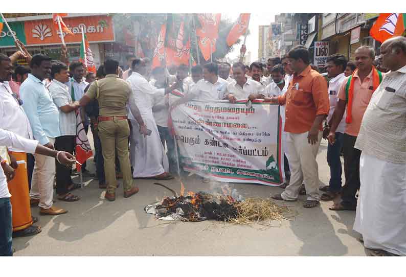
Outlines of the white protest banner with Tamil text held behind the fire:
[[172,111],[185,171],[224,182],[283,182],[279,106],[245,102],[190,101]]

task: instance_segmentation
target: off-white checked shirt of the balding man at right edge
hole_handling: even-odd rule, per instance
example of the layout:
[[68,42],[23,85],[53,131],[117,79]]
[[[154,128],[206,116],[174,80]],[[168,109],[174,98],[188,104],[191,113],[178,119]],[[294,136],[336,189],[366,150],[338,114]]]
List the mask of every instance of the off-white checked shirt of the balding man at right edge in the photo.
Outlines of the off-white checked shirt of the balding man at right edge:
[[[385,74],[364,113],[354,147],[389,163],[406,165],[406,65]],[[397,185],[404,183],[399,180]]]

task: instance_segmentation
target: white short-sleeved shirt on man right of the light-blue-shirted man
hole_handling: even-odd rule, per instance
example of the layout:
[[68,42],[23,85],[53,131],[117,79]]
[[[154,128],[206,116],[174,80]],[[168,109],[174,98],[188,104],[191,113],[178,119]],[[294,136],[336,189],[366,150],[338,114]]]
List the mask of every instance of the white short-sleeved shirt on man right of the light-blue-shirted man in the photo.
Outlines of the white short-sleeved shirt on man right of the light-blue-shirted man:
[[69,93],[69,87],[57,80],[52,80],[48,87],[52,100],[59,111],[59,131],[62,135],[76,135],[76,112],[63,112],[61,107],[72,104],[72,97]]

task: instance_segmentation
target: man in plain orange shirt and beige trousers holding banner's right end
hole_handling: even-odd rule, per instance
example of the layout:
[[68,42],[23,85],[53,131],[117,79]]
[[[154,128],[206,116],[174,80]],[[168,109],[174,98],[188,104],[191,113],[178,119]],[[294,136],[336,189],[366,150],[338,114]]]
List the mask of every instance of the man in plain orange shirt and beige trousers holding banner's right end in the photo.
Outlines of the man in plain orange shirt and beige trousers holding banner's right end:
[[284,95],[271,98],[271,102],[286,104],[285,132],[290,166],[290,183],[277,200],[295,201],[304,179],[307,200],[304,207],[320,202],[319,167],[316,156],[322,139],[322,122],[329,112],[327,81],[310,68],[309,52],[297,46],[288,53],[294,76]]

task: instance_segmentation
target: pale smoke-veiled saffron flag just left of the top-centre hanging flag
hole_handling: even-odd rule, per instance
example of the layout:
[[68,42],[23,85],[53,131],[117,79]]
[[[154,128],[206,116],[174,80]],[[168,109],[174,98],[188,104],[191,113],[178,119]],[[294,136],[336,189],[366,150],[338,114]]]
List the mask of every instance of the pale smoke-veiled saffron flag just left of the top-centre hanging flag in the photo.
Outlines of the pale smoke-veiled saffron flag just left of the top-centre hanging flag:
[[168,38],[168,45],[165,48],[167,65],[181,64],[188,65],[190,58],[190,39],[184,44],[185,28],[184,22],[179,27],[179,32],[176,39]]

